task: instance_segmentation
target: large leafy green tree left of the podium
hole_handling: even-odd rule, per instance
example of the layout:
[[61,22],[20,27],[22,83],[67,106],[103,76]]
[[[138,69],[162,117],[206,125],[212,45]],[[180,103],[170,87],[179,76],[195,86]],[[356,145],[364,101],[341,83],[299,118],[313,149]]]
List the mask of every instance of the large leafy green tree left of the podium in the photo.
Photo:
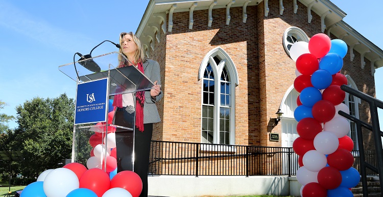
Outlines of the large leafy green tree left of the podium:
[[66,94],[54,99],[33,98],[16,107],[17,123],[10,142],[21,151],[24,176],[37,177],[46,169],[62,167],[70,158],[75,103]]

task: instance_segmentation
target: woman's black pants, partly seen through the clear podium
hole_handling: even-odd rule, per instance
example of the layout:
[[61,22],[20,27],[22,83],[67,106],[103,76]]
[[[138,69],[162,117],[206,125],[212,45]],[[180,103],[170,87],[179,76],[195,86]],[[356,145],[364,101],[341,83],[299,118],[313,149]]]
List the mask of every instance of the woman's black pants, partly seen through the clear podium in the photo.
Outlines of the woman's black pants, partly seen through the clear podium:
[[[115,113],[114,124],[132,128],[134,123],[134,113],[118,109]],[[143,124],[143,132],[138,128],[134,128],[134,172],[142,180],[142,192],[140,197],[148,196],[148,168],[150,156],[150,144],[152,141],[153,124]],[[133,149],[133,132],[121,131],[118,129],[116,135],[117,149],[117,172],[124,170],[132,170],[132,149]]]

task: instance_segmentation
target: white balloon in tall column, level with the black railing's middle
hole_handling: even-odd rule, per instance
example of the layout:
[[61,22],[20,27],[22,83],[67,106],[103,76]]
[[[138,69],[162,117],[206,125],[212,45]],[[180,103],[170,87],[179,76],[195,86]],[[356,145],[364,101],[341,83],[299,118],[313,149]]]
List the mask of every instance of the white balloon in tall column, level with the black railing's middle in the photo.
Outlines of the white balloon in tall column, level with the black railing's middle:
[[312,172],[319,172],[327,165],[327,158],[317,150],[307,151],[302,158],[304,167]]

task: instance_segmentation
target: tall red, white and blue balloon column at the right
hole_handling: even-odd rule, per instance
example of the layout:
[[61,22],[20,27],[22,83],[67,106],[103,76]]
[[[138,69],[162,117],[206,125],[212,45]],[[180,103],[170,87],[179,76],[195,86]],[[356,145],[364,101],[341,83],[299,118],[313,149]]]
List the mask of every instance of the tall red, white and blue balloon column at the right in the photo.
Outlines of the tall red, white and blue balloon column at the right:
[[353,196],[350,188],[360,181],[352,168],[353,142],[350,125],[339,111],[349,113],[343,103],[347,78],[340,73],[347,45],[323,33],[309,42],[296,42],[290,55],[296,61],[295,90],[300,93],[294,117],[299,137],[293,149],[299,156],[297,180],[303,197]]

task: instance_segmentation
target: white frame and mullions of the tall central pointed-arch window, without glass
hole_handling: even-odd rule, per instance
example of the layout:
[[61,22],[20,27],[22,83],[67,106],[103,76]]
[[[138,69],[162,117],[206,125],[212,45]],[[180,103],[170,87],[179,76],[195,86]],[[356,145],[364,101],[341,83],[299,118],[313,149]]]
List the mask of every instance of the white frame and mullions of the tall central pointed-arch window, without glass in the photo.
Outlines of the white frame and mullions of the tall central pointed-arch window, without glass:
[[[218,56],[221,61],[217,64],[214,61],[213,57]],[[235,87],[239,84],[238,81],[238,72],[236,70],[235,64],[230,58],[230,56],[221,48],[217,47],[211,51],[209,51],[200,64],[200,70],[198,72],[198,80],[203,80],[204,72],[207,67],[207,64],[210,63],[213,74],[214,74],[214,125],[213,125],[213,144],[219,144],[220,142],[220,106],[221,106],[221,74],[224,68],[226,68],[226,72],[229,74],[230,78],[230,145],[235,144]],[[203,81],[201,83],[201,92],[203,92]],[[202,105],[203,105],[203,94],[201,94],[201,129],[202,130]],[[201,142],[202,142],[202,134],[201,134]]]

